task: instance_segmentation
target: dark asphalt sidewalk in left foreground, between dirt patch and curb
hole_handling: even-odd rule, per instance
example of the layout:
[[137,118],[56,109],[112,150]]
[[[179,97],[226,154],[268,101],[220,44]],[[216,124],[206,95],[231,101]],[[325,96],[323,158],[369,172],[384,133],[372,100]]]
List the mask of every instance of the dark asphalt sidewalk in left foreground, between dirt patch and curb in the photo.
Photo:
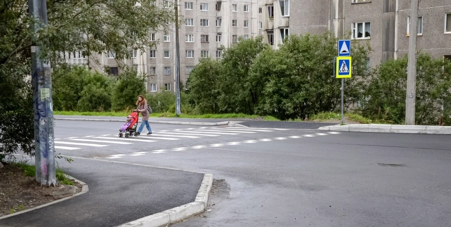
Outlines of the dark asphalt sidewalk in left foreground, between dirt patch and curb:
[[89,192],[0,219],[0,226],[117,226],[196,200],[203,174],[74,158],[60,162]]

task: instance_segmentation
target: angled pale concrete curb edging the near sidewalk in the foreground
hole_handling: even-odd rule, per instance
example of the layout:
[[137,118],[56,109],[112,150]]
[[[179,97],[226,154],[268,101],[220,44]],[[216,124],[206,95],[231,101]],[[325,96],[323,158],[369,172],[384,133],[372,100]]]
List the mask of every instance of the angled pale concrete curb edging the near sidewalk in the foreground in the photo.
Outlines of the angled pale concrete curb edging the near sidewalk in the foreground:
[[205,174],[194,202],[121,224],[117,227],[160,227],[202,213],[207,208],[212,184],[213,175]]

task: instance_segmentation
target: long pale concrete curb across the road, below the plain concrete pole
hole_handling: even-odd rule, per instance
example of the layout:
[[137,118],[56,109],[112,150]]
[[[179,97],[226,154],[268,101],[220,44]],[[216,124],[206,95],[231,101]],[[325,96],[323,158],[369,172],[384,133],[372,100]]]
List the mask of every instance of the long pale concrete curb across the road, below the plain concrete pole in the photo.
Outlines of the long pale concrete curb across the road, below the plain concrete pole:
[[408,133],[451,135],[451,126],[420,125],[334,125],[318,128],[319,130],[339,132],[373,132],[373,133]]

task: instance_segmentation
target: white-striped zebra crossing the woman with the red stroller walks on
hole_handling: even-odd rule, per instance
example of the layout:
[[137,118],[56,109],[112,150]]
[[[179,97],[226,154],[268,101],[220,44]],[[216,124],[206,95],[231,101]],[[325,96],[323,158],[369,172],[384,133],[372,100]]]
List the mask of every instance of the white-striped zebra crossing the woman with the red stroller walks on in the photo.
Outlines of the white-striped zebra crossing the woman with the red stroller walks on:
[[239,128],[239,127],[199,127],[187,129],[154,131],[151,135],[121,138],[117,134],[88,135],[55,139],[55,149],[80,150],[87,147],[107,147],[110,145],[130,145],[134,143],[154,143],[158,141],[176,141],[181,139],[197,139],[202,137],[218,137],[224,135],[250,135],[263,132],[287,131],[290,129],[271,128]]

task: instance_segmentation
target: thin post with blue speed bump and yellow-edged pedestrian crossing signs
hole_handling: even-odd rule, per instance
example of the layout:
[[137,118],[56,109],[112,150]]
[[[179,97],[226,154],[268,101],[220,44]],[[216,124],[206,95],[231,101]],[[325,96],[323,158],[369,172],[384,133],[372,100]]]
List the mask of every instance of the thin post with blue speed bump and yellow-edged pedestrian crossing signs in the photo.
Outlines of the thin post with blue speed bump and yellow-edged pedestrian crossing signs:
[[338,45],[339,56],[335,61],[335,78],[342,79],[342,125],[344,120],[345,109],[345,78],[351,78],[352,75],[352,58],[351,58],[351,40],[339,40]]

